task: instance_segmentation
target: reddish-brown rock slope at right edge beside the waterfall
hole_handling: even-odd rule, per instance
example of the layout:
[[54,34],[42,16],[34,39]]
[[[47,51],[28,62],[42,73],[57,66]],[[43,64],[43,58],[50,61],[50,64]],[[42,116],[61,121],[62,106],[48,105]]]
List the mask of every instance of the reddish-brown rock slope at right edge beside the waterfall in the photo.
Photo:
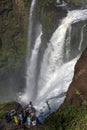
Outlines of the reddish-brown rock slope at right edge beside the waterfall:
[[[69,87],[65,104],[82,106],[87,102],[87,48],[77,61],[74,78]],[[87,104],[87,103],[86,103]]]

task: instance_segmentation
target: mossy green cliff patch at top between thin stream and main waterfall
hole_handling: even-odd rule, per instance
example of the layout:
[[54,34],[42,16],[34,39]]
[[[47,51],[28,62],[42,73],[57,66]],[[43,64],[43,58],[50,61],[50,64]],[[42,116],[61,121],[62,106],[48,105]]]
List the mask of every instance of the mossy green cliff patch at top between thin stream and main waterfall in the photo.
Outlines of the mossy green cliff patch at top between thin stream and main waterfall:
[[[38,2],[38,6],[37,6],[37,17],[39,18],[39,20],[41,20],[42,17],[43,21],[43,32],[44,34],[46,34],[46,38],[47,40],[49,40],[54,28],[55,28],[55,19],[57,19],[57,13],[55,12],[55,10],[53,9],[54,4],[56,3],[56,0],[40,0]],[[42,12],[44,11],[44,15],[42,14]],[[43,16],[42,16],[43,15]]]

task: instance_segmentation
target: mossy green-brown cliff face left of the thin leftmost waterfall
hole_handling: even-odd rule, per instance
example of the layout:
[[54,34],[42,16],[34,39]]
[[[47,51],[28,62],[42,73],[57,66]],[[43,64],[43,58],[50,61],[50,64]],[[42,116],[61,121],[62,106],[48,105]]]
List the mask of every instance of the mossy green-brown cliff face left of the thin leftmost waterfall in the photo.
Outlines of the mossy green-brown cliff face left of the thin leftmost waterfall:
[[20,67],[24,63],[27,48],[27,15],[30,6],[30,1],[27,2],[25,0],[22,3],[24,5],[20,5],[24,12],[18,12],[19,14],[14,12],[12,1],[5,2],[6,10],[5,4],[0,2],[2,4],[0,12],[3,12],[0,16],[0,74],[9,68]]

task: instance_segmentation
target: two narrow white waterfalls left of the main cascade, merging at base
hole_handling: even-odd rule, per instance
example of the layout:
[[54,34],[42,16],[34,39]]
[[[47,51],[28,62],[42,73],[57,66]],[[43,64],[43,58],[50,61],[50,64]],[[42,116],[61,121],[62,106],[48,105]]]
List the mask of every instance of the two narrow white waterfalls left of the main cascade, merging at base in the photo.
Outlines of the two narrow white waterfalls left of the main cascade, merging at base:
[[35,44],[33,50],[31,51],[30,57],[30,45],[32,44],[32,30],[33,30],[33,16],[35,15],[35,6],[36,0],[32,0],[30,15],[29,15],[29,31],[28,31],[28,46],[27,46],[27,69],[26,69],[26,90],[25,94],[19,94],[19,101],[28,103],[30,100],[33,100],[35,96],[35,76],[36,76],[36,66],[37,66],[37,58],[39,52],[39,46],[41,44],[41,36],[42,36],[42,25],[38,24],[36,28],[37,37],[35,40]]

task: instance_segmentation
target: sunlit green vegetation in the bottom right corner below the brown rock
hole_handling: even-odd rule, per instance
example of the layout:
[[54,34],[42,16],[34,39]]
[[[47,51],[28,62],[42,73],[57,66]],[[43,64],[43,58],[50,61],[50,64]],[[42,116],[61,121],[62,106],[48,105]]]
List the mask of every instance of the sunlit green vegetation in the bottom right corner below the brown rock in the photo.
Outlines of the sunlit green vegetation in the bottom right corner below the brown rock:
[[64,107],[49,116],[46,130],[86,130],[87,108]]

